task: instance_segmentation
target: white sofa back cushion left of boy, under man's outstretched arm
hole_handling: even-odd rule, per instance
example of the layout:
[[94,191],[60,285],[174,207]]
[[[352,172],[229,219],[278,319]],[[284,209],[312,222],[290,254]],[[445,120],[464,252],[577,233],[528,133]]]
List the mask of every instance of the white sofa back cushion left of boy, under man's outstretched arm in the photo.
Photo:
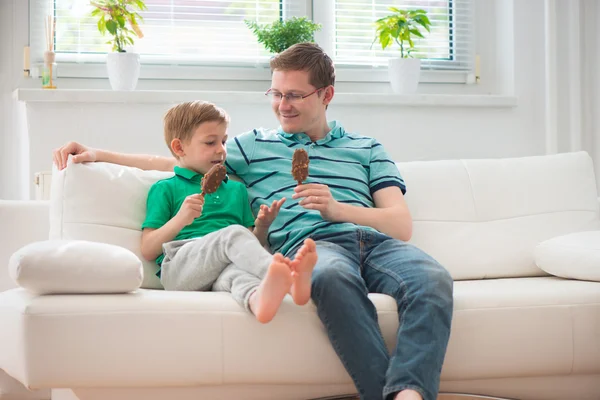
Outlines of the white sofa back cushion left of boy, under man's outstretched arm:
[[142,287],[162,288],[157,265],[141,255],[141,226],[148,190],[173,173],[142,171],[108,163],[73,164],[52,172],[50,238],[114,244],[144,266]]

